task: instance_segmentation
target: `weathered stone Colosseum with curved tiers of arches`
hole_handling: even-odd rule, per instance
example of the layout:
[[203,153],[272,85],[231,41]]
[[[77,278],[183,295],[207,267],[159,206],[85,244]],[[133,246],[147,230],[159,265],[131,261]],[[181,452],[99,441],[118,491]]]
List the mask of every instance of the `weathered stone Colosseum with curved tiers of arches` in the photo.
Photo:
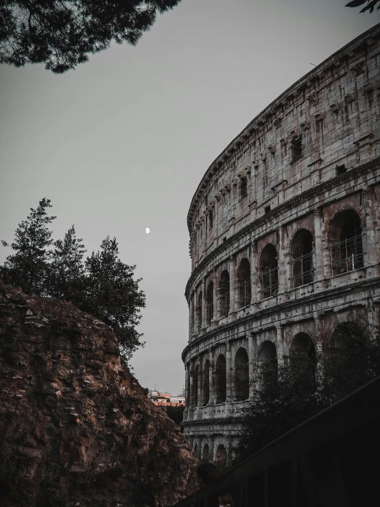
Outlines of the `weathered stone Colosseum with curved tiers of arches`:
[[262,362],[379,322],[379,69],[376,25],[254,118],[195,191],[183,427],[199,458],[236,442]]

